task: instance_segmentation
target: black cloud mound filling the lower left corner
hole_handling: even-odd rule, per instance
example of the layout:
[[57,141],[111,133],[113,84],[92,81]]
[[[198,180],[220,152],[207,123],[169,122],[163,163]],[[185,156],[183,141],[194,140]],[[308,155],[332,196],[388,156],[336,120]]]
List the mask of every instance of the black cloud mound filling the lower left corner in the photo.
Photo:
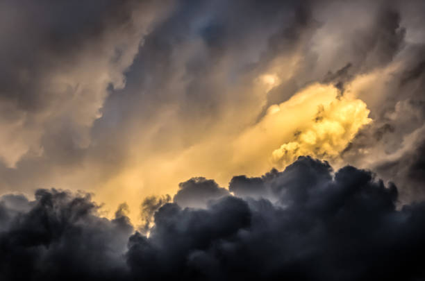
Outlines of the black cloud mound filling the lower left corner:
[[[1,202],[10,204],[10,197]],[[124,274],[122,254],[133,232],[124,216],[102,219],[87,194],[55,189],[39,189],[27,204],[31,208],[15,211],[0,232],[2,280],[117,280]]]

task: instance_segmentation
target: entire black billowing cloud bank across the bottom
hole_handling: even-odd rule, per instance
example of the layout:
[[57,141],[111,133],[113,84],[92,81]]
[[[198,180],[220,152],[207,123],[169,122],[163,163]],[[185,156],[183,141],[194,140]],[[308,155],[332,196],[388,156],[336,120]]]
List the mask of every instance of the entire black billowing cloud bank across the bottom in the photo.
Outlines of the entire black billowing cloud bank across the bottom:
[[[39,189],[0,201],[2,280],[422,280],[425,203],[397,210],[370,171],[300,157],[284,171],[183,182],[201,208],[163,201],[149,236],[88,194]],[[208,190],[208,192],[206,191]],[[213,191],[215,190],[215,191]],[[185,201],[183,201],[185,202]],[[144,203],[146,205],[147,203]]]

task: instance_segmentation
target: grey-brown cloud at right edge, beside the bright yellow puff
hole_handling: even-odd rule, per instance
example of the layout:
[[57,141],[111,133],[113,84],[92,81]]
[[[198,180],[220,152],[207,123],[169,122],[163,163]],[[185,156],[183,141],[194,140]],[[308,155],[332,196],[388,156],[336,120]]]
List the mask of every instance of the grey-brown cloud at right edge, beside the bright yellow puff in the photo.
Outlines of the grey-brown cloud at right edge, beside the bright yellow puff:
[[401,56],[396,62],[401,67],[376,80],[381,87],[376,95],[381,97],[372,104],[374,123],[361,131],[342,155],[347,162],[369,167],[397,182],[406,202],[424,198],[422,181],[412,176],[423,170],[414,163],[422,158],[424,144],[424,46],[410,46]]

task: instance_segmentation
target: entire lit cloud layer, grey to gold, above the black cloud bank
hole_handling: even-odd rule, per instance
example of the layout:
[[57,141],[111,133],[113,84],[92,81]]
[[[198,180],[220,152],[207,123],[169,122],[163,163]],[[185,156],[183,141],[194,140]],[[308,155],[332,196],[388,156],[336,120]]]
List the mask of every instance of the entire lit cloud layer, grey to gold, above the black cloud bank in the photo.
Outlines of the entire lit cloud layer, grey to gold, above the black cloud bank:
[[137,219],[193,176],[312,155],[424,195],[422,1],[0,5],[3,193],[85,189]]

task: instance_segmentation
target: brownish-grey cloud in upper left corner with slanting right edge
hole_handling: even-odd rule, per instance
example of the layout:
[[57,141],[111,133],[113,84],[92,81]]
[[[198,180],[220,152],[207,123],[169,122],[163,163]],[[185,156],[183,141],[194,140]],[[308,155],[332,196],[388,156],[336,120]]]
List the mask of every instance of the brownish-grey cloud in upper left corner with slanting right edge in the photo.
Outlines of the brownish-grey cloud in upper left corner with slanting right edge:
[[1,3],[1,34],[11,37],[2,39],[0,51],[1,111],[7,114],[0,120],[0,159],[7,167],[26,154],[78,155],[90,146],[108,88],[124,87],[124,71],[154,12],[149,3],[133,1],[95,1],[84,8]]

